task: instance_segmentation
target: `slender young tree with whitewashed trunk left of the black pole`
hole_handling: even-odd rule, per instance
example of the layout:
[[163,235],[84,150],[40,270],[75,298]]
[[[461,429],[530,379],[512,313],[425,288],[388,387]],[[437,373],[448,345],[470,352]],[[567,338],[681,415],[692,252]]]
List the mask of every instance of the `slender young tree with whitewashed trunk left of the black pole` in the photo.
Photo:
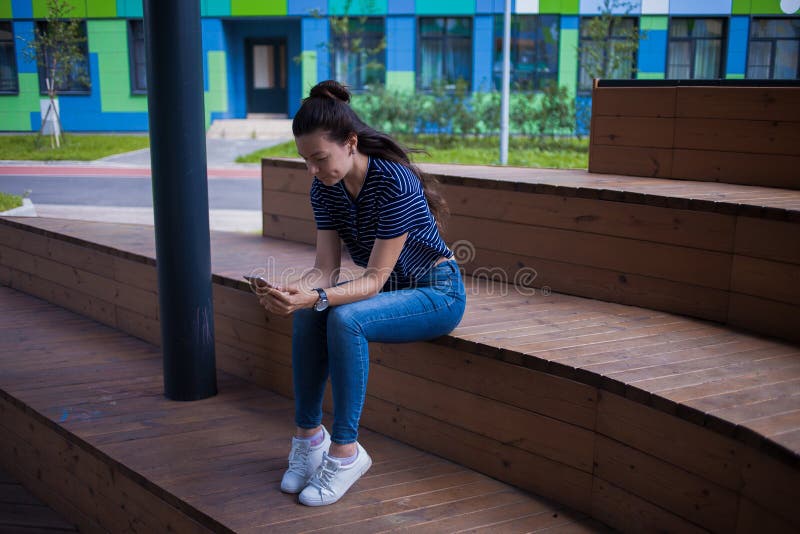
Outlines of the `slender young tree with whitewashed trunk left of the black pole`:
[[39,26],[34,29],[34,38],[24,40],[23,54],[28,61],[36,62],[40,72],[44,73],[47,97],[50,102],[45,116],[42,117],[42,126],[39,128],[37,144],[41,139],[42,131],[51,115],[55,127],[50,138],[51,146],[61,146],[61,117],[56,108],[55,99],[61,88],[70,81],[89,85],[86,74],[80,69],[84,61],[83,46],[86,37],[81,28],[81,21],[68,18],[72,6],[68,0],[47,0],[47,18],[44,28]]

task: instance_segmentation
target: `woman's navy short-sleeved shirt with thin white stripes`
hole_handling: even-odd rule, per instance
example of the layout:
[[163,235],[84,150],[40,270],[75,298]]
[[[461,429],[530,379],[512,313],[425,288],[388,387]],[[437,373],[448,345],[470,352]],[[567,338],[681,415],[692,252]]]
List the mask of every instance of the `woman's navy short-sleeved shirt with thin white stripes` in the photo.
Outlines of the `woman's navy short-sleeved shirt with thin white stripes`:
[[336,230],[353,262],[361,267],[367,266],[375,239],[408,232],[384,290],[407,287],[426,274],[439,256],[453,257],[439,235],[422,183],[404,165],[370,157],[358,197],[350,195],[344,180],[329,187],[316,177],[310,197],[317,228]]

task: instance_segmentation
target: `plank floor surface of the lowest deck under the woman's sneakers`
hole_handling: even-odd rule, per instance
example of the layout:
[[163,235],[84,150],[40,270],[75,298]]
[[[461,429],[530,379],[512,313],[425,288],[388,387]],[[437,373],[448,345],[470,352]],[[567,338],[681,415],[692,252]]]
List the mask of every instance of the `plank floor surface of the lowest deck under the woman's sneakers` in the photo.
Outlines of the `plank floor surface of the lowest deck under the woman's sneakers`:
[[[143,235],[129,230],[131,237]],[[220,371],[217,396],[170,401],[162,394],[157,347],[7,287],[0,287],[0,330],[0,400],[17,399],[237,532],[344,525],[348,532],[603,530],[583,515],[367,430],[360,440],[373,456],[372,469],[340,503],[304,507],[279,490],[293,430],[289,399]]]

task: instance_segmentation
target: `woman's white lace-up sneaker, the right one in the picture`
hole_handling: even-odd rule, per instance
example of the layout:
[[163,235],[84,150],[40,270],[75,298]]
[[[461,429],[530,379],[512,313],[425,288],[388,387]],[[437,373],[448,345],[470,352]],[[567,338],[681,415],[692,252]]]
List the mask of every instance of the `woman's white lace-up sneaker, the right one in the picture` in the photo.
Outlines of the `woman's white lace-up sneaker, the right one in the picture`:
[[308,481],[308,486],[300,492],[300,502],[306,506],[325,506],[342,498],[361,475],[372,466],[372,458],[360,443],[356,443],[358,457],[350,464],[343,466],[339,460],[322,455],[322,463]]

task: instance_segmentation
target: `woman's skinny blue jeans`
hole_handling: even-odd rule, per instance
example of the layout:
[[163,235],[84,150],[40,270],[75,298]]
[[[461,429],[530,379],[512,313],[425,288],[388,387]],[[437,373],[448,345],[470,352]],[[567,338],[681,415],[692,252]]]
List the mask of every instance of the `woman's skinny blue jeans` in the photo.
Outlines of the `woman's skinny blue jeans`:
[[465,305],[464,281],[451,259],[431,268],[411,287],[381,291],[322,312],[297,310],[292,324],[295,424],[316,428],[322,422],[322,397],[330,374],[331,440],[355,442],[367,392],[368,343],[443,336],[461,321]]

